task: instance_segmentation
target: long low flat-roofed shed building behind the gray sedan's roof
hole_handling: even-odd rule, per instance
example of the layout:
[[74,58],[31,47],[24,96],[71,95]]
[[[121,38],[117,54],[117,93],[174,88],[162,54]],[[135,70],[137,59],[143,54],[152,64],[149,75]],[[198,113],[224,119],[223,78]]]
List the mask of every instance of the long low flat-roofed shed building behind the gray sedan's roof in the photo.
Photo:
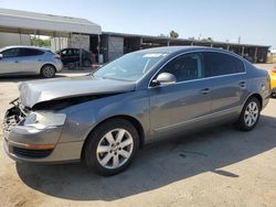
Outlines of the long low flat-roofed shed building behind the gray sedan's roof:
[[234,52],[254,63],[265,63],[269,50],[269,46],[265,45],[170,39],[162,36],[123,34],[113,32],[103,32],[100,35],[100,53],[104,54],[106,62],[113,61],[125,53],[137,50],[176,45],[198,45],[224,48]]

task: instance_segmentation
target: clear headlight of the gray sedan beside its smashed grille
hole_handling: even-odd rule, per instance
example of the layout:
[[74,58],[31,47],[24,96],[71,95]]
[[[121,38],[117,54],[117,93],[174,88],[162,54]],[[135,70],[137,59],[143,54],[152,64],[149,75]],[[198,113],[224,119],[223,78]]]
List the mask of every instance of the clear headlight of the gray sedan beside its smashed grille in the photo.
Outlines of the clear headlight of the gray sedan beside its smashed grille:
[[23,121],[23,126],[45,129],[47,127],[63,126],[66,119],[64,113],[31,112]]

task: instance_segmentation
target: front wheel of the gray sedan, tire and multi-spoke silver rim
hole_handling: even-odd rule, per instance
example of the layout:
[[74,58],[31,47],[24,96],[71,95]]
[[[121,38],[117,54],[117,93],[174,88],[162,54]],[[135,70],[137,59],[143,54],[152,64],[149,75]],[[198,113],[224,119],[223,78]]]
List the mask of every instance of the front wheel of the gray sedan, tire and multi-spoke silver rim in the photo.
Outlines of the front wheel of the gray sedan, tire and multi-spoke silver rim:
[[112,119],[97,127],[84,148],[86,165],[104,176],[124,172],[139,148],[136,128],[125,119]]

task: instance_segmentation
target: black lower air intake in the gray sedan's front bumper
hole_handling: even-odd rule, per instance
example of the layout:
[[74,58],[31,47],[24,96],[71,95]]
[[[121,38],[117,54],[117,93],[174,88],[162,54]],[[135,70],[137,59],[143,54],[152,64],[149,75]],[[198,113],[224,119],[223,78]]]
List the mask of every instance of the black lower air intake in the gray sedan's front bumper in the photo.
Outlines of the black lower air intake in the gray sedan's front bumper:
[[29,149],[22,149],[12,146],[13,154],[26,159],[43,159],[49,156],[53,150],[29,150]]

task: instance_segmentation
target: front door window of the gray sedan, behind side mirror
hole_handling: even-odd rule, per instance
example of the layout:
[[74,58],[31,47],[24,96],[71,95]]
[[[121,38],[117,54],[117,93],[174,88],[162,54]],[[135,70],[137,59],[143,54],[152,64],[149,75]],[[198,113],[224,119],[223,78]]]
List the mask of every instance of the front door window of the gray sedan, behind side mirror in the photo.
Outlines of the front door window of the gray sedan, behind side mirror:
[[197,53],[177,57],[168,63],[160,73],[173,74],[177,77],[177,81],[202,78],[204,77],[202,55]]

